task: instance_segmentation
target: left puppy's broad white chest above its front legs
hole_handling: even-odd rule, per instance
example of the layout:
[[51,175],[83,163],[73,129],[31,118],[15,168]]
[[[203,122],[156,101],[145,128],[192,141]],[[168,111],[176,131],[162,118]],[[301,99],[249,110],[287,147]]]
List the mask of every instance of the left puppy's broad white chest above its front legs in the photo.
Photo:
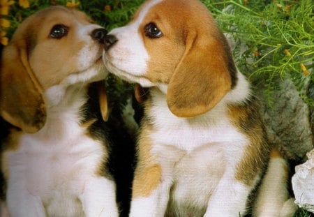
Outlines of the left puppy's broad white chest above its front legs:
[[20,149],[7,153],[8,185],[12,190],[27,190],[40,197],[54,216],[54,210],[62,210],[58,207],[80,207],[77,196],[84,190],[85,181],[96,174],[104,157],[101,144],[89,137],[45,143],[22,137]]

